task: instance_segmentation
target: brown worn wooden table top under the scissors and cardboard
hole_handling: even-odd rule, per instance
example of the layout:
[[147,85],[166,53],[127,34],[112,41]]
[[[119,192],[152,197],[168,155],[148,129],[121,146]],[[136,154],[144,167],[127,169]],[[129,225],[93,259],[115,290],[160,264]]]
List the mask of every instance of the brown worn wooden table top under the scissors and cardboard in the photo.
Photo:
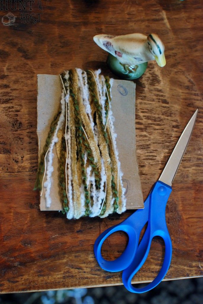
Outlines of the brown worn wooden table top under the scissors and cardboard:
[[[32,11],[28,4],[26,11],[19,11],[18,5],[15,11],[0,11],[0,17],[8,12],[16,16],[12,26],[0,23],[0,291],[122,283],[121,273],[100,269],[93,244],[101,231],[131,212],[69,221],[59,212],[40,212],[39,193],[32,190],[38,164],[36,75],[59,74],[71,67],[101,67],[103,74],[113,76],[106,65],[107,53],[92,39],[99,33],[158,33],[165,44],[166,66],[151,62],[136,80],[137,157],[144,199],[199,108],[166,209],[173,256],[165,279],[201,276],[201,0],[42,0],[41,5],[43,11],[36,0]],[[21,23],[21,13],[41,13],[40,23]],[[122,234],[111,237],[103,246],[104,257],[117,257],[126,242]],[[151,247],[134,282],[151,281],[160,269],[162,241],[155,240]]]

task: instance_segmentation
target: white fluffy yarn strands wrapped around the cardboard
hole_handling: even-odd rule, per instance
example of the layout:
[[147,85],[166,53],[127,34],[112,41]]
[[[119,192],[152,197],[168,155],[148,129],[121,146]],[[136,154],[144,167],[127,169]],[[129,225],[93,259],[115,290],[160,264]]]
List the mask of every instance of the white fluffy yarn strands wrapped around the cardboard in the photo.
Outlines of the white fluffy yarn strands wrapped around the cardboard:
[[[88,82],[87,82],[87,74],[85,71],[82,71],[79,68],[76,68],[76,73],[78,75],[78,81],[79,81],[79,94],[81,96],[81,99],[83,100],[83,105],[85,106],[85,111],[88,115],[88,118],[90,120],[90,126],[93,130],[94,138],[95,141],[98,145],[98,128],[94,124],[93,120],[93,113],[91,110],[90,106],[90,92],[89,92],[89,87],[88,87]],[[117,210],[118,213],[121,213],[125,210],[126,208],[126,199],[124,197],[125,189],[123,188],[122,184],[122,176],[123,173],[120,169],[120,161],[118,160],[118,150],[116,146],[116,137],[117,134],[114,132],[114,126],[113,126],[113,113],[111,110],[111,105],[109,104],[109,111],[108,111],[108,116],[106,119],[106,114],[105,114],[105,102],[106,102],[106,84],[105,84],[105,78],[104,76],[100,75],[101,70],[95,71],[94,72],[94,78],[96,80],[97,84],[97,89],[98,89],[98,95],[99,95],[99,102],[101,105],[101,112],[102,112],[102,121],[104,126],[106,126],[107,123],[110,124],[110,132],[111,132],[111,137],[113,140],[113,146],[114,146],[114,153],[117,158],[117,164],[118,164],[118,178],[120,180],[120,185],[122,186],[122,207],[120,207],[119,210]],[[44,187],[46,187],[46,192],[45,192],[45,199],[46,199],[46,206],[50,207],[51,205],[51,197],[50,197],[50,190],[51,190],[51,185],[52,185],[52,172],[54,170],[52,166],[52,161],[53,161],[53,147],[55,143],[58,141],[57,138],[57,133],[59,129],[62,128],[63,123],[66,119],[67,116],[67,121],[66,121],[66,128],[67,132],[64,134],[65,139],[66,139],[66,190],[67,190],[67,197],[68,197],[68,206],[69,206],[69,211],[67,212],[67,218],[72,219],[72,218],[79,218],[80,216],[85,215],[85,192],[84,192],[84,187],[83,185],[80,186],[80,199],[81,199],[81,210],[74,210],[74,202],[73,202],[73,185],[72,185],[72,170],[71,170],[71,129],[70,129],[70,107],[69,107],[69,72],[67,71],[64,78],[67,80],[65,83],[65,90],[63,89],[62,92],[62,97],[61,97],[61,114],[59,116],[59,120],[56,126],[56,130],[53,134],[51,144],[49,146],[49,150],[47,152],[47,166],[46,166],[46,181],[44,183]],[[113,85],[113,79],[110,79],[110,86],[112,87]],[[111,92],[111,90],[110,90]],[[66,112],[67,109],[67,112]],[[88,140],[88,138],[87,138]],[[45,157],[46,158],[46,157]],[[85,152],[84,156],[84,161],[86,165],[87,161],[87,154]],[[101,157],[101,172],[100,172],[100,189],[96,189],[96,183],[95,183],[95,175],[94,172],[92,171],[92,167],[89,165],[86,167],[86,184],[87,187],[90,188],[90,196],[92,198],[93,203],[89,205],[90,208],[90,217],[95,217],[100,215],[100,212],[103,207],[103,202],[106,197],[106,191],[107,188],[105,187],[107,177],[106,177],[106,172],[105,172],[105,166],[104,166],[104,161],[103,158]],[[114,198],[111,199],[110,206],[113,207],[114,203]],[[112,208],[111,208],[112,210]],[[111,210],[105,212],[104,216],[107,216]],[[104,217],[102,216],[102,217]]]

